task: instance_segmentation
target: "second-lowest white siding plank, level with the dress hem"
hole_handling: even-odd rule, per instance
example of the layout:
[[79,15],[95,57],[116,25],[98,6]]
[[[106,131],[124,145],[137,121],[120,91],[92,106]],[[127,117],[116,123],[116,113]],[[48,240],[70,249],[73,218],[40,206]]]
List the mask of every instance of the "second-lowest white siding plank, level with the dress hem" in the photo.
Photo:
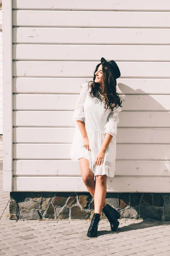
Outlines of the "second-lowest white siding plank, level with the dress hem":
[[[14,160],[13,175],[81,176],[79,160]],[[116,160],[115,176],[170,176],[170,161]]]

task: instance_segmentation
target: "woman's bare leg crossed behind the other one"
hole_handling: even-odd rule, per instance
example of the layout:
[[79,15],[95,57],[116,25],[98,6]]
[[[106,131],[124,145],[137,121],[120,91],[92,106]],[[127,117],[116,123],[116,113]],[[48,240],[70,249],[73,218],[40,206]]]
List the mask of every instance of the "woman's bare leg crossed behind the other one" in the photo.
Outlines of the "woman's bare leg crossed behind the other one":
[[[91,169],[89,168],[89,161],[84,157],[82,157],[79,159],[79,164],[80,164],[82,180],[85,183],[85,186],[87,187],[88,192],[94,198],[95,180],[94,180],[94,174],[93,172],[91,172]],[[107,202],[104,201],[102,208],[105,207],[106,204]]]

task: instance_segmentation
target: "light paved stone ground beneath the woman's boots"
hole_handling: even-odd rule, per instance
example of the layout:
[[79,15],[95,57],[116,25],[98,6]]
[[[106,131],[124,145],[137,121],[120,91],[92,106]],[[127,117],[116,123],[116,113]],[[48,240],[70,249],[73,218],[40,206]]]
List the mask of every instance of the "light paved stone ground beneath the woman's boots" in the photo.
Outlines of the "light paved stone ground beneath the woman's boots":
[[[2,158],[0,163],[2,167]],[[120,219],[112,232],[109,222],[102,220],[97,237],[89,238],[89,221],[9,220],[9,192],[3,192],[2,174],[0,255],[170,256],[170,221]]]

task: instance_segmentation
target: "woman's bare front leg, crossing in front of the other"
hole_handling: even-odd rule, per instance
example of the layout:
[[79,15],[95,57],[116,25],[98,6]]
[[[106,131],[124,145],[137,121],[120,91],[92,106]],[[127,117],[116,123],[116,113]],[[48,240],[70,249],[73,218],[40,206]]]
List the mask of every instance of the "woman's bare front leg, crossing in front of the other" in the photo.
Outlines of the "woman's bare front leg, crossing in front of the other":
[[94,212],[101,213],[105,204],[107,192],[107,175],[96,175],[96,186],[94,192]]

